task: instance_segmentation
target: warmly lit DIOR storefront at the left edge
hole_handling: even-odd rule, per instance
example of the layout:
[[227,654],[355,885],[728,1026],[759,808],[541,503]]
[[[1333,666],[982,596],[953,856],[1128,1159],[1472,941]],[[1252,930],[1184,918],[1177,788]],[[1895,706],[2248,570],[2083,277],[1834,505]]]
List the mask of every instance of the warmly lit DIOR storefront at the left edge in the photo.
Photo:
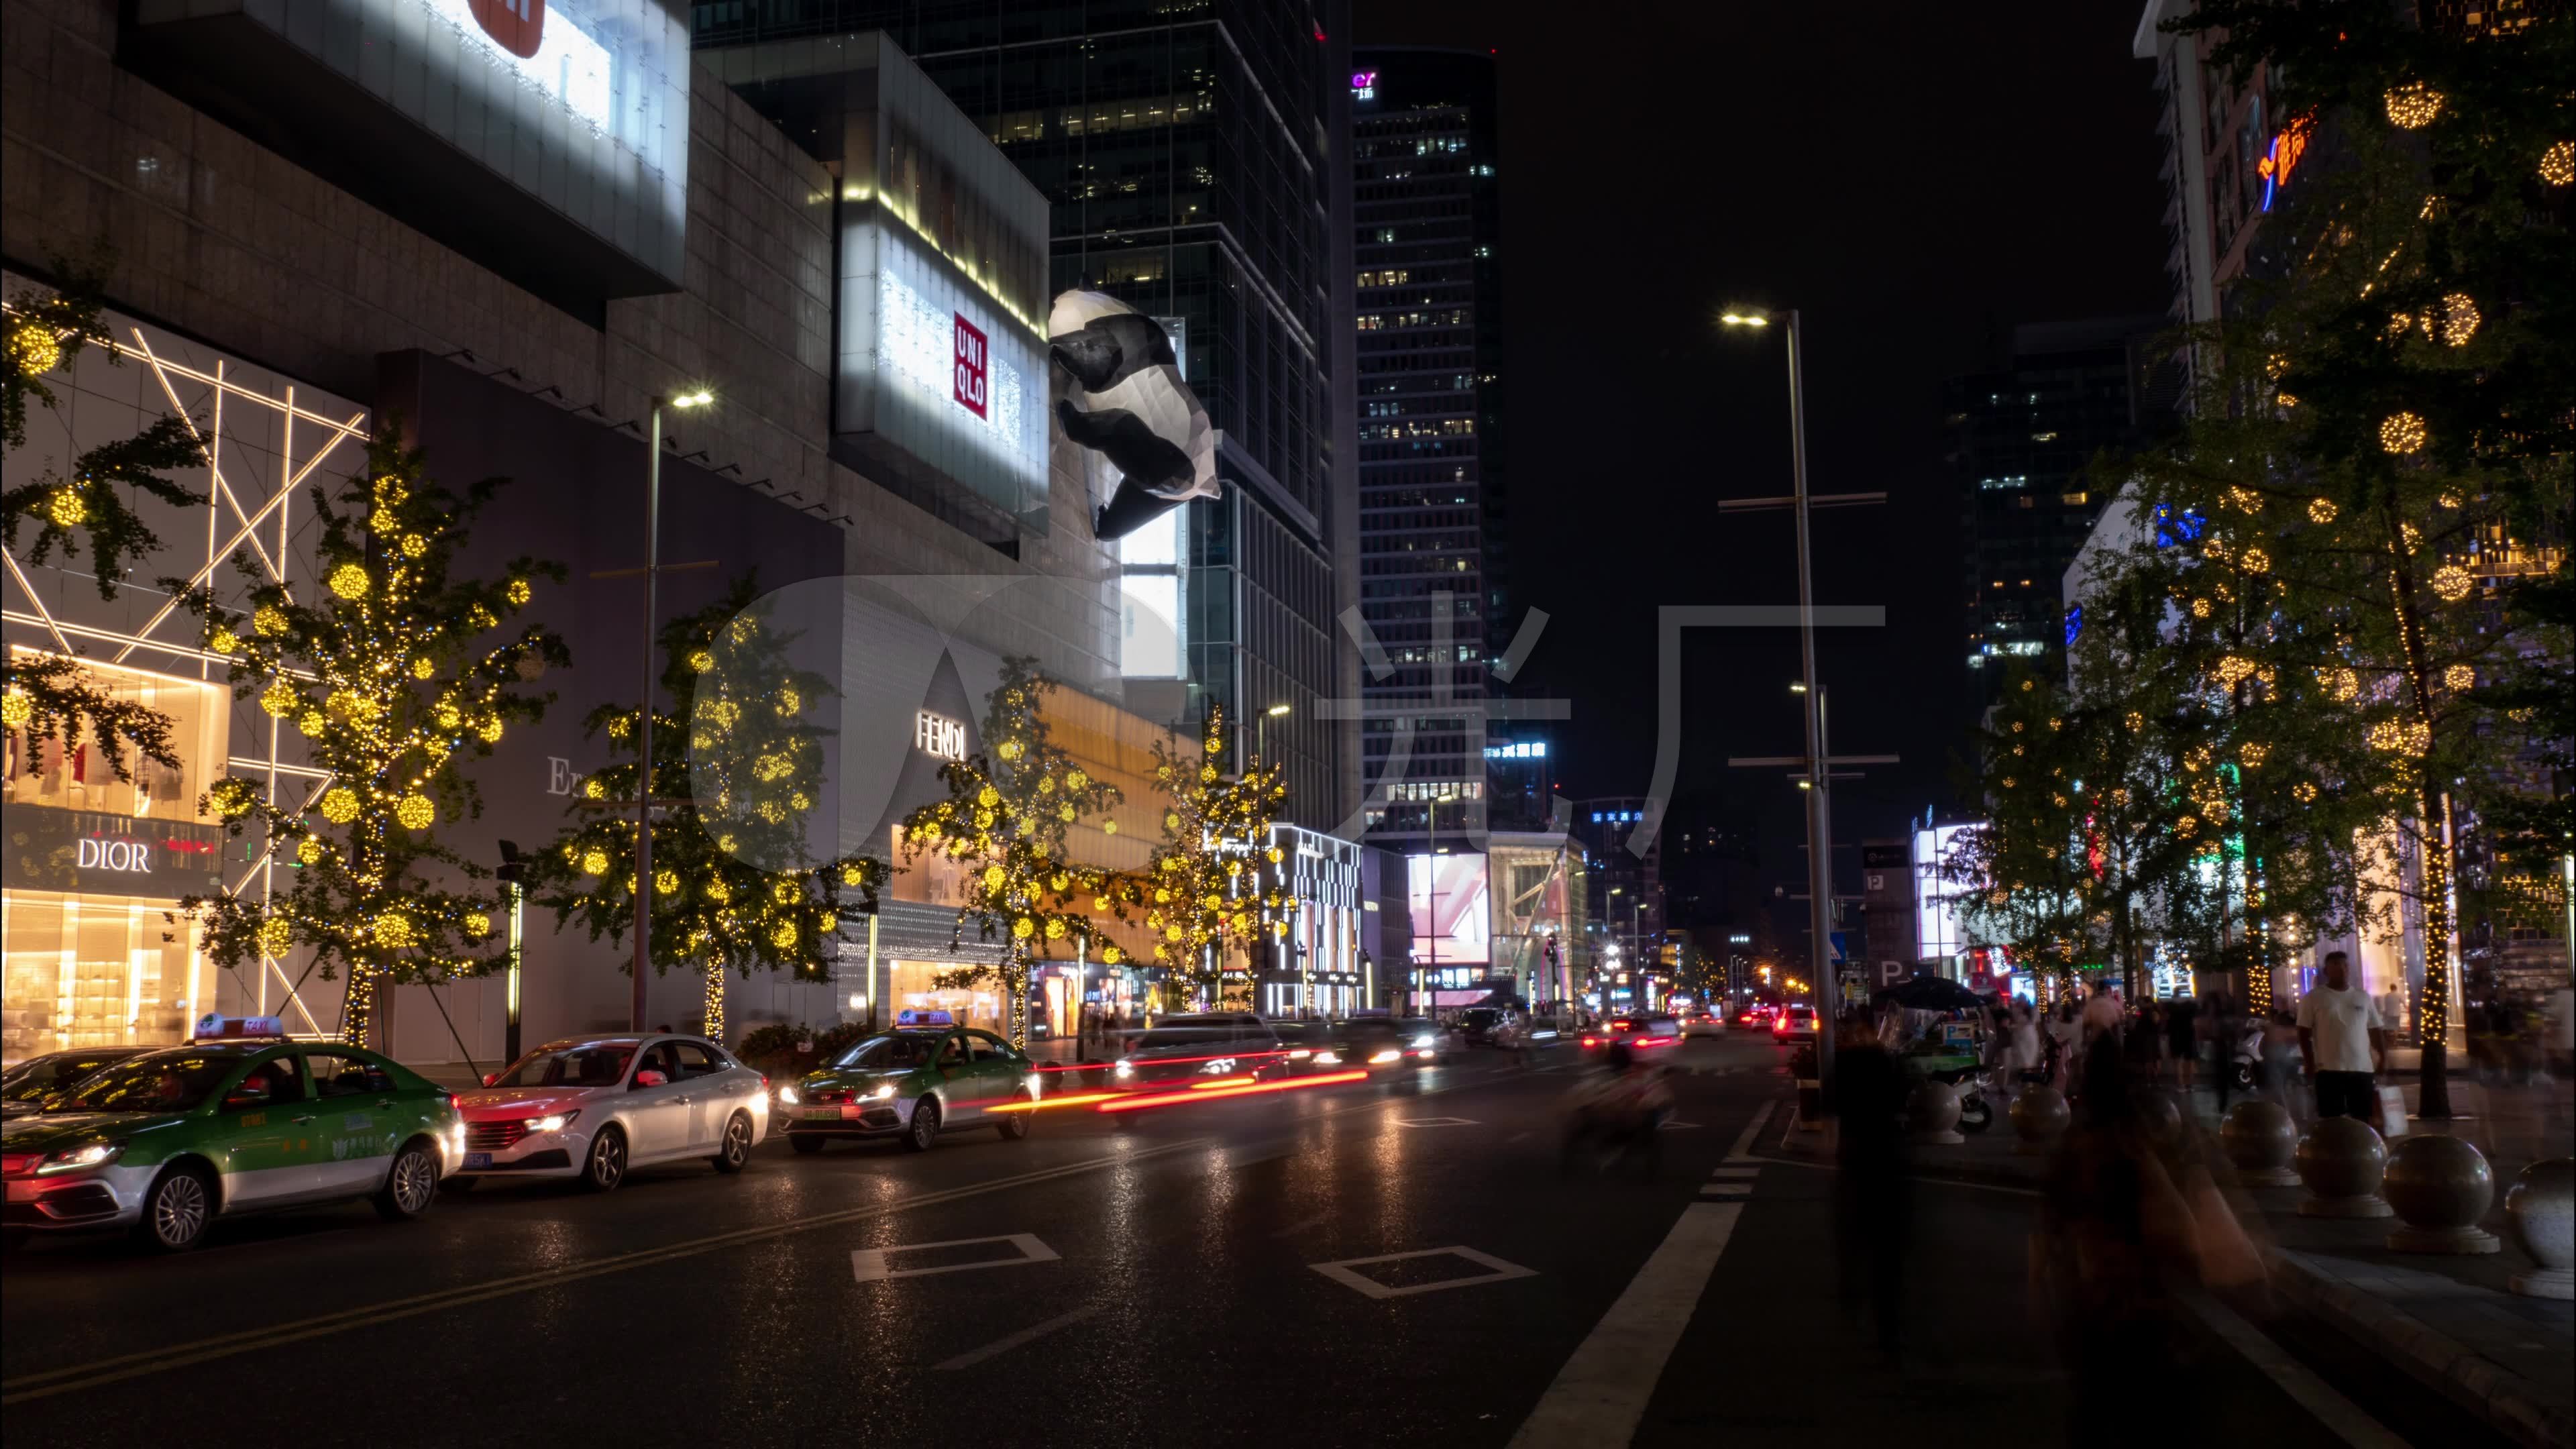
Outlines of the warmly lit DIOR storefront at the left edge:
[[211,980],[167,913],[211,892],[224,833],[196,802],[224,763],[222,686],[85,665],[111,694],[170,717],[178,768],[129,761],[116,779],[95,743],[8,732],[0,802],[0,1060],[64,1047],[165,1047],[188,1034]]

